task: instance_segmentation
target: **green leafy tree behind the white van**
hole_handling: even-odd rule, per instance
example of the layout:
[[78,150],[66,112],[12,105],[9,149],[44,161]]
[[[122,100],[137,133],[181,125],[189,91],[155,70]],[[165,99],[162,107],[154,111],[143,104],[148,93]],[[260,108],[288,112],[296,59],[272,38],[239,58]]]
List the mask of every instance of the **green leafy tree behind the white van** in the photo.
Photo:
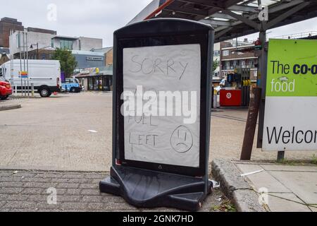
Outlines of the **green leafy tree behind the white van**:
[[72,52],[68,49],[56,49],[52,59],[61,63],[61,71],[65,73],[66,78],[70,78],[77,66],[77,61]]

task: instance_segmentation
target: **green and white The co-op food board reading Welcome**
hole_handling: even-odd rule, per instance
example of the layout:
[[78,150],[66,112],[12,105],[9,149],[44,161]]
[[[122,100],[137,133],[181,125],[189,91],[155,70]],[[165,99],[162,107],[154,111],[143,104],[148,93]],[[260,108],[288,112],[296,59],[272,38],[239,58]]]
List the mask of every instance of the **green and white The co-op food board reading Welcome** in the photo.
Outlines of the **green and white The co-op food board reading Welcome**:
[[317,150],[317,41],[270,40],[263,150]]

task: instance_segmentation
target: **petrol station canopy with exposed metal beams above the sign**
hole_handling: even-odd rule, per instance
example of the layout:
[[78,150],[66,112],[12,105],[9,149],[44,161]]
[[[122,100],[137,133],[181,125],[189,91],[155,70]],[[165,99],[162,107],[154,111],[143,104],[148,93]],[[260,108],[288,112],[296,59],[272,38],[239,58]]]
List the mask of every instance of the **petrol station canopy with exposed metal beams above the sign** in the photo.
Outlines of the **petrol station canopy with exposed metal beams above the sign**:
[[[259,15],[266,12],[268,20],[261,23]],[[154,0],[130,23],[150,18],[196,20],[212,25],[215,42],[220,42],[316,16],[316,0]]]

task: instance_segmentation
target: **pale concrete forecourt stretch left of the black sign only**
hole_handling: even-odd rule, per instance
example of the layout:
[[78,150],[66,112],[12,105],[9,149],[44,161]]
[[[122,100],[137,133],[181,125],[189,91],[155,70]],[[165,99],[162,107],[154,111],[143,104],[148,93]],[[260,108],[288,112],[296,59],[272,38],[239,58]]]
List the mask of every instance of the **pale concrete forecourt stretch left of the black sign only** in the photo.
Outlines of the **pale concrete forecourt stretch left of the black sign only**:
[[[9,100],[0,112],[0,168],[106,171],[111,164],[111,95]],[[89,130],[97,131],[92,133]]]

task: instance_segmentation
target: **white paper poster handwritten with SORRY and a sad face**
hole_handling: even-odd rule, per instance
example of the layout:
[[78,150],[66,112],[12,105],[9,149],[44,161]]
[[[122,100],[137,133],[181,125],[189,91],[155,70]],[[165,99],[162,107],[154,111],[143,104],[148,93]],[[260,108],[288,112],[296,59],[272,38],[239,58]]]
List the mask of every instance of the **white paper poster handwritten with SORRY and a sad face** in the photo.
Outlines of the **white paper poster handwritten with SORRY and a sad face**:
[[126,160],[199,167],[200,76],[199,44],[123,49]]

